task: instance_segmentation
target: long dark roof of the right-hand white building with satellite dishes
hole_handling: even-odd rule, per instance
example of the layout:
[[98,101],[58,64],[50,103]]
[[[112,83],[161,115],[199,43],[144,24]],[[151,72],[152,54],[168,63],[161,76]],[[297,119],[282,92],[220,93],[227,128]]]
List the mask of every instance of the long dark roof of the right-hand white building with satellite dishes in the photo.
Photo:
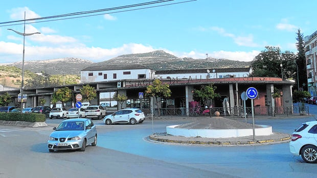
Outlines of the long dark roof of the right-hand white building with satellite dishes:
[[206,69],[183,69],[183,70],[156,70],[155,74],[174,74],[174,73],[207,73],[209,69],[210,73],[215,72],[249,72],[250,67],[241,68],[206,68]]

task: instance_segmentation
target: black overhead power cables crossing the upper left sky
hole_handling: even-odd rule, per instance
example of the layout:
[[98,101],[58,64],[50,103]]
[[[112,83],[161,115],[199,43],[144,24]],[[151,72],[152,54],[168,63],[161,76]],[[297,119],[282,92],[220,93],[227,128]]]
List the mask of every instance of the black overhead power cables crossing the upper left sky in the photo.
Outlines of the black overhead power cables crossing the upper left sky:
[[[16,26],[16,25],[19,25],[19,24],[24,24],[24,21],[33,21],[33,22],[26,22],[27,24],[30,24],[30,23],[39,23],[39,22],[47,22],[47,21],[57,21],[57,20],[73,19],[73,18],[83,18],[83,17],[89,17],[89,16],[97,16],[97,15],[104,15],[104,14],[112,14],[112,13],[119,13],[119,12],[128,12],[128,11],[135,11],[135,10],[141,10],[141,9],[149,9],[149,8],[155,8],[155,7],[169,6],[169,5],[175,5],[175,4],[193,2],[193,1],[197,1],[197,0],[189,0],[189,1],[183,1],[183,2],[178,2],[178,3],[169,3],[169,4],[165,4],[165,5],[156,5],[156,6],[150,6],[150,7],[144,7],[144,8],[136,8],[136,9],[129,9],[129,10],[121,10],[121,11],[116,11],[116,12],[107,12],[107,13],[99,13],[99,14],[93,14],[93,15],[84,15],[84,14],[104,12],[104,11],[112,11],[112,10],[126,9],[126,8],[131,8],[131,7],[139,7],[139,6],[153,5],[153,4],[157,4],[157,3],[165,3],[165,2],[170,2],[170,1],[174,1],[174,0],[153,1],[153,2],[146,2],[146,3],[134,4],[134,5],[120,6],[120,7],[115,7],[115,8],[106,8],[106,9],[99,9],[99,10],[93,10],[93,11],[83,11],[83,12],[75,12],[75,13],[68,13],[68,14],[62,14],[62,15],[54,15],[54,16],[48,16],[48,17],[40,17],[40,18],[32,18],[32,19],[25,19],[25,20],[16,20],[16,21],[0,22],[0,24],[5,24],[5,25],[1,25],[0,27]],[[67,16],[74,16],[74,15],[83,15],[83,16],[60,18],[60,17],[67,17]],[[59,18],[59,19],[34,21],[34,20],[50,19],[50,18]],[[15,23],[15,22],[23,22],[23,23]],[[14,23],[14,24],[8,24],[8,23]]]

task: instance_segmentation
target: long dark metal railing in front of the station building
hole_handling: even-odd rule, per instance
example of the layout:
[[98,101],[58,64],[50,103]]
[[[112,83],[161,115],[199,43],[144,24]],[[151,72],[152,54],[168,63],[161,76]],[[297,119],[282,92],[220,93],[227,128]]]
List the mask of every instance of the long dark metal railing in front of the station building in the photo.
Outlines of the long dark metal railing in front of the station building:
[[[206,116],[215,115],[218,111],[220,116],[244,117],[243,107],[234,108],[160,108],[160,109],[142,109],[145,115],[153,114],[153,116]],[[247,116],[252,115],[252,108],[246,107],[245,113]],[[293,106],[293,107],[254,107],[254,115],[267,115],[274,117],[275,115],[289,114],[308,114],[308,106]]]

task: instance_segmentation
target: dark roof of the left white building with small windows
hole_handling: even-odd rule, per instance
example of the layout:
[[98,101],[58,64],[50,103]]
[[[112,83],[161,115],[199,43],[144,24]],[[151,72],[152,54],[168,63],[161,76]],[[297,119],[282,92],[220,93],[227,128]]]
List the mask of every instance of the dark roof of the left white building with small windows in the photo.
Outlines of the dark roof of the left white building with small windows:
[[89,66],[81,71],[98,71],[98,70],[129,70],[129,69],[148,69],[143,65],[104,65],[104,66]]

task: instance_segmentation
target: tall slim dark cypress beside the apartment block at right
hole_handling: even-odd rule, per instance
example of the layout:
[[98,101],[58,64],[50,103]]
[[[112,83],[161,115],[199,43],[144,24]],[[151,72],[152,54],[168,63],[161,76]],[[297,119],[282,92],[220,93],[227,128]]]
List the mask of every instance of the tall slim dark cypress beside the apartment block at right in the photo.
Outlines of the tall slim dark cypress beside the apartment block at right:
[[303,86],[304,90],[307,91],[308,90],[307,84],[303,85],[304,83],[307,82],[307,68],[306,68],[304,37],[300,29],[298,29],[298,32],[296,34],[297,34],[296,40],[298,41],[296,43],[296,47],[298,50],[297,59],[296,59],[296,63],[298,65],[298,78],[299,78],[298,81],[299,81],[299,86]]

